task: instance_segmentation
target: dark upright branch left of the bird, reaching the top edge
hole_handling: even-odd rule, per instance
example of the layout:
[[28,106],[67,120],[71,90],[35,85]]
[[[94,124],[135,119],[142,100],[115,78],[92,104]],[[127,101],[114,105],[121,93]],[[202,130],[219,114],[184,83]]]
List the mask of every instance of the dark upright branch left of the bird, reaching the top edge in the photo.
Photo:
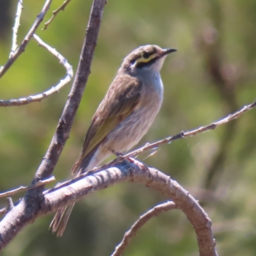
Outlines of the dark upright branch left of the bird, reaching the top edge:
[[46,179],[51,176],[68,139],[69,132],[74,121],[74,116],[76,115],[77,108],[81,102],[85,84],[90,74],[90,65],[92,63],[93,52],[97,42],[97,36],[99,34],[100,21],[102,19],[103,8],[106,3],[105,1],[106,0],[93,1],[76,77],[70,94],[68,95],[68,100],[60,117],[56,132],[45,157],[35,174],[33,182],[37,182],[38,180]]

